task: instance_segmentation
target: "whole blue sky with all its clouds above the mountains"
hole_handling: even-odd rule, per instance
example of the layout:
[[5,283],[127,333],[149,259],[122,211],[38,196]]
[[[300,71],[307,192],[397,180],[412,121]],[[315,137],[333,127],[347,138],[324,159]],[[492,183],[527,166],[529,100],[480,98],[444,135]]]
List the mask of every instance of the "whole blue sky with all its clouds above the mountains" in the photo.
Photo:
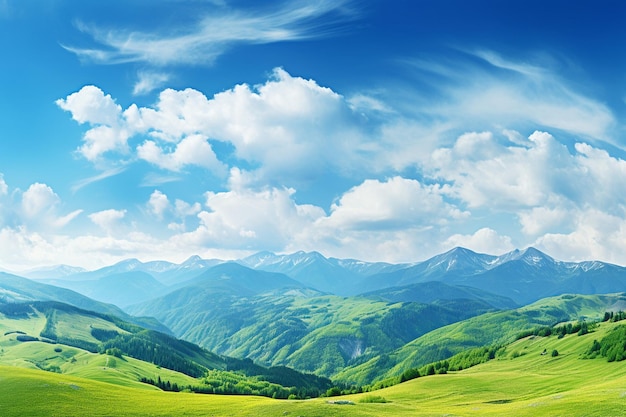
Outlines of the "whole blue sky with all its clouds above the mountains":
[[626,3],[0,0],[0,269],[626,265]]

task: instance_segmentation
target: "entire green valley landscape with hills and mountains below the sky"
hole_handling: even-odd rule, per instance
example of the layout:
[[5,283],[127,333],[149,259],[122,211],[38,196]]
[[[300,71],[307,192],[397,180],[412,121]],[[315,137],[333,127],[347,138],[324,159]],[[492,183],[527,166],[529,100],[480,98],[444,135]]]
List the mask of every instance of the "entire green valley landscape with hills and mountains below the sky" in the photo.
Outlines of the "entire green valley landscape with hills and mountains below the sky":
[[[615,265],[457,248],[411,265],[265,252],[46,273],[0,275],[0,389],[6,380],[24,391],[8,402],[0,393],[1,415],[19,415],[20,401],[32,415],[80,415],[90,402],[91,415],[594,415],[581,401],[617,415],[626,406],[620,354],[590,354],[624,326],[604,320],[626,310],[626,272]],[[567,323],[591,330],[533,330]],[[45,401],[27,400],[29,385],[45,387]]]

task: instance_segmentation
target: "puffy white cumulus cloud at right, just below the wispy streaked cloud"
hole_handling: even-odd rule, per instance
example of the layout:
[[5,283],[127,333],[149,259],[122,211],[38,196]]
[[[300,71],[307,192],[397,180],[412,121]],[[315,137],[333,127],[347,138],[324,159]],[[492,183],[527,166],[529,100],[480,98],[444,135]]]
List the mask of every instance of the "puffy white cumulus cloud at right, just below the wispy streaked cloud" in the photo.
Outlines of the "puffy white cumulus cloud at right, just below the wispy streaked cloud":
[[[554,164],[559,169],[554,169]],[[493,134],[468,133],[451,148],[433,152],[432,175],[453,184],[447,192],[470,207],[514,210],[546,204],[568,194],[577,170],[564,145],[535,132],[526,146],[502,145]]]

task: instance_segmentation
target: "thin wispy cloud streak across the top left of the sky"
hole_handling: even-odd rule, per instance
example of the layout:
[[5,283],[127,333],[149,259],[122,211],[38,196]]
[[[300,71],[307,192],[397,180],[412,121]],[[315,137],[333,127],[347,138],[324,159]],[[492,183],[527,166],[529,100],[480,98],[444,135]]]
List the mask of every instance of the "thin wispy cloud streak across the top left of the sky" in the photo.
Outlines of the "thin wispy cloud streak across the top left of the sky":
[[238,43],[264,44],[325,36],[343,20],[352,19],[350,0],[285,2],[277,10],[218,9],[194,25],[164,30],[103,29],[79,23],[100,47],[63,47],[81,59],[102,63],[149,63],[156,66],[211,64]]

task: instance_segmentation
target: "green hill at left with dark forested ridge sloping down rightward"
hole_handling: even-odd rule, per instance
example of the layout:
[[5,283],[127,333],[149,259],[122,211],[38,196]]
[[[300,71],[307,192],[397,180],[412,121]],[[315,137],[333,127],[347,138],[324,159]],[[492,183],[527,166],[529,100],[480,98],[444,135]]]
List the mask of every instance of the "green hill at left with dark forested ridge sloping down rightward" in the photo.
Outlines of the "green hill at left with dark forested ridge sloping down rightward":
[[0,349],[0,364],[122,385],[142,381],[172,391],[305,398],[331,385],[292,369],[221,357],[114,316],[52,301],[0,304]]

